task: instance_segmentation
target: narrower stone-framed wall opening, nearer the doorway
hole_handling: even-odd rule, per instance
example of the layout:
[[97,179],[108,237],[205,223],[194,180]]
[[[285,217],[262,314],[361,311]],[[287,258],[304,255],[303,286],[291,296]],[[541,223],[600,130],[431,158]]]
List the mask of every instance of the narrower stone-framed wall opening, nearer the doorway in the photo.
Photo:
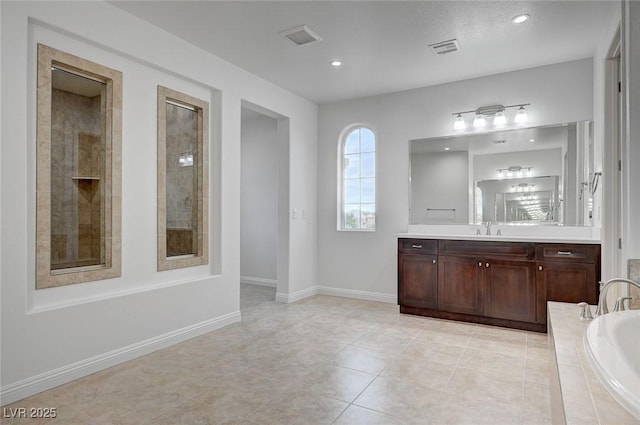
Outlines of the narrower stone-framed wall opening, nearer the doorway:
[[158,86],[158,270],[208,263],[209,104]]

